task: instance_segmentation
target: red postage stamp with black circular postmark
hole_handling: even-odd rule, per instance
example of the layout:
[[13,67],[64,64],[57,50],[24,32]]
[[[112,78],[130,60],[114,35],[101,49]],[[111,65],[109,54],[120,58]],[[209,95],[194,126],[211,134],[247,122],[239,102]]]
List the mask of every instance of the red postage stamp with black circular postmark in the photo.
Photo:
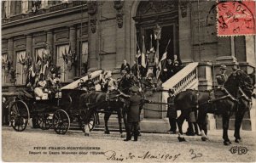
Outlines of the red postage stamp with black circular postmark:
[[218,36],[255,35],[254,1],[218,2]]

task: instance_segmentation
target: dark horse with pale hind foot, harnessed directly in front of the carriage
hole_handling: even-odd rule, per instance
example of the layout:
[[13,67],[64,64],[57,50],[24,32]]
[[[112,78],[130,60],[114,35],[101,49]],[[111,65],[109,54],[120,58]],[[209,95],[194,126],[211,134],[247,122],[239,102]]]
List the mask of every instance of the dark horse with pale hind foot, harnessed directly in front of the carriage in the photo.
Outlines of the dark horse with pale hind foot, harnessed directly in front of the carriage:
[[[125,94],[114,90],[112,93],[91,92],[84,93],[79,97],[79,110],[84,121],[84,134],[89,136],[90,130],[88,124],[90,117],[100,111],[104,114],[105,133],[109,134],[108,119],[113,111],[117,112],[119,119],[119,132],[122,134],[122,110],[125,107]],[[121,135],[122,136],[122,135]]]

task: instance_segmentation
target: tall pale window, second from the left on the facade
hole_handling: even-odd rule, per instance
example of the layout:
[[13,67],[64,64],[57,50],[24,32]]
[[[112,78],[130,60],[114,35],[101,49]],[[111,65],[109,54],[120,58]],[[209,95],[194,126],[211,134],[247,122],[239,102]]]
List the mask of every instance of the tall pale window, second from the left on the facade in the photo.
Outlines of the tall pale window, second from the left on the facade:
[[20,61],[22,59],[25,59],[26,57],[26,51],[20,51],[16,53],[17,55],[17,62],[16,62],[16,84],[17,85],[23,85],[26,82],[26,74],[24,71],[24,65],[21,65]]

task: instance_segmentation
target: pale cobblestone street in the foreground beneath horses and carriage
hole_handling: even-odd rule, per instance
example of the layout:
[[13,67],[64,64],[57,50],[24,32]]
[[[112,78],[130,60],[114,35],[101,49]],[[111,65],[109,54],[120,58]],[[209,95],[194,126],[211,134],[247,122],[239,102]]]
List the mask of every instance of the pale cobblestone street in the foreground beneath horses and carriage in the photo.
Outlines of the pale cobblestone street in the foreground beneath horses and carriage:
[[[57,135],[53,130],[42,131],[27,127],[15,132],[11,127],[2,129],[2,158],[4,161],[123,161],[123,162],[177,162],[177,161],[255,161],[255,132],[241,131],[243,142],[237,144],[229,131],[230,146],[224,146],[222,131],[209,131],[209,141],[185,136],[179,143],[177,135],[143,133],[138,142],[124,142],[118,132],[109,135],[91,132],[84,137],[80,131]],[[231,154],[233,147],[246,147],[247,153]],[[236,150],[235,150],[236,151]],[[244,152],[243,152],[244,153]]]

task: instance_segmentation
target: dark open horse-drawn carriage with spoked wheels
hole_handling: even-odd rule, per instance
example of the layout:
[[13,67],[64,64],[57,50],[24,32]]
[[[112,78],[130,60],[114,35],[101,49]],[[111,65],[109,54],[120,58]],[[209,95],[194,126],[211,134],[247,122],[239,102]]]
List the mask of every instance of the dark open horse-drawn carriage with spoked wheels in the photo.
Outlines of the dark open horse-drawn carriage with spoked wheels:
[[[20,90],[17,93],[3,93],[3,97],[13,97],[9,105],[9,121],[15,131],[24,131],[32,118],[34,127],[38,126],[43,130],[54,128],[56,133],[65,134],[73,121],[77,121],[80,128],[83,127],[83,110],[78,108],[78,97],[83,93],[84,90],[78,89],[61,90],[61,97],[37,100],[26,90]],[[95,123],[96,117],[92,115],[88,124],[90,130]]]

